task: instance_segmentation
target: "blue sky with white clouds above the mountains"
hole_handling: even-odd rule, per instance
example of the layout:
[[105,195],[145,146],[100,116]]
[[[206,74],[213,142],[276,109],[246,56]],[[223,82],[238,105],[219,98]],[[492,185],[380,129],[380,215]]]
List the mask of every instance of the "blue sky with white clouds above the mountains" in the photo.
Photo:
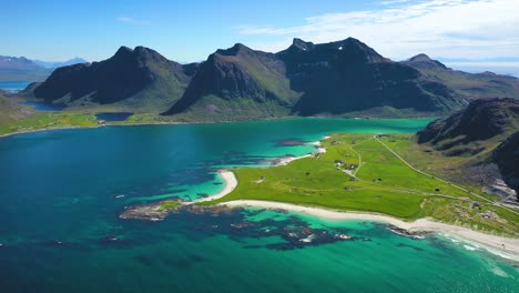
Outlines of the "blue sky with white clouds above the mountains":
[[357,38],[404,60],[519,65],[519,0],[3,0],[1,55],[111,57],[144,46],[179,62],[236,42],[276,52],[293,38]]

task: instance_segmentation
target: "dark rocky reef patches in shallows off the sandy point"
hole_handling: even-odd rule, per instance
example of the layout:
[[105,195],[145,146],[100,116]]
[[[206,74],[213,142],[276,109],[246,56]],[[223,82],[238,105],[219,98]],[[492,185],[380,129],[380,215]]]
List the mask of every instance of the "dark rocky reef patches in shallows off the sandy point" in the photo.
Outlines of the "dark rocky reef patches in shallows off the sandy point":
[[[138,205],[128,208],[122,219],[141,219],[157,221],[156,211],[153,206],[160,206],[161,203]],[[151,211],[151,212],[150,212]],[[344,229],[314,229],[297,216],[287,216],[287,219],[275,220],[265,219],[261,221],[247,220],[247,216],[254,216],[264,212],[264,210],[245,210],[241,208],[228,208],[225,205],[204,206],[196,204],[179,205],[161,214],[161,220],[166,215],[172,218],[189,218],[181,222],[190,223],[189,231],[199,231],[206,234],[224,234],[236,242],[243,242],[243,239],[261,239],[276,236],[282,239],[278,243],[258,245],[272,250],[293,250],[306,246],[315,246],[339,241],[355,241]],[[282,211],[286,213],[286,211]],[[215,223],[215,218],[217,221]],[[286,218],[286,215],[284,215]],[[112,243],[112,238],[106,238],[106,244]],[[254,244],[246,244],[245,247],[256,247]],[[184,259],[170,260],[169,263],[174,266],[184,267],[189,262]]]

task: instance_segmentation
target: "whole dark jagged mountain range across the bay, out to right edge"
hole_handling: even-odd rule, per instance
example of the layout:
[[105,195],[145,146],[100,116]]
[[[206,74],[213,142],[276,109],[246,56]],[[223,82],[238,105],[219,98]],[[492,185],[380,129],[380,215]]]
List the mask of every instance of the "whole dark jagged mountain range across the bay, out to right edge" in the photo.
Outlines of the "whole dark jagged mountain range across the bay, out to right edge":
[[55,70],[24,94],[70,108],[111,105],[187,121],[287,115],[442,115],[477,98],[519,98],[519,80],[470,74],[419,54],[384,58],[359,40],[294,39],[277,53],[237,43],[180,64],[144,47]]

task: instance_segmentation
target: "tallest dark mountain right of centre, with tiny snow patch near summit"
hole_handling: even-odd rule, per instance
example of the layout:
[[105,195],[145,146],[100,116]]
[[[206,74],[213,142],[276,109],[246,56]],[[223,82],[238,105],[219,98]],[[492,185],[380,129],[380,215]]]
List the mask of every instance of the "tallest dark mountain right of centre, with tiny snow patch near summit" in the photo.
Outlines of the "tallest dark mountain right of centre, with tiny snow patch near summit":
[[441,113],[465,105],[444,84],[423,79],[417,70],[354,38],[322,44],[295,39],[277,55],[287,67],[292,89],[303,93],[294,108],[303,115],[381,107]]

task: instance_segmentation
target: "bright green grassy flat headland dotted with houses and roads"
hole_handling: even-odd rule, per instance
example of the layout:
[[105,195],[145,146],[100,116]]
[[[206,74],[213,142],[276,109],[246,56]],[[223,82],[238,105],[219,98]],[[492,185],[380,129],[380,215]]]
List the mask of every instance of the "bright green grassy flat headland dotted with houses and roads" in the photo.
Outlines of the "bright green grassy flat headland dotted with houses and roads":
[[[374,139],[373,134],[335,134],[323,142],[327,150],[324,154],[282,166],[234,170],[238,180],[236,189],[204,204],[233,200],[277,201],[381,213],[406,221],[429,216],[490,233],[519,234],[518,214],[489,202],[495,198],[480,198],[481,194],[459,190],[450,182],[428,175],[429,172],[419,173],[389,148],[398,145],[401,152],[416,144],[409,135],[400,134],[380,140]],[[480,208],[470,208],[475,202]],[[480,213],[486,211],[492,211],[496,216],[481,216]]]

